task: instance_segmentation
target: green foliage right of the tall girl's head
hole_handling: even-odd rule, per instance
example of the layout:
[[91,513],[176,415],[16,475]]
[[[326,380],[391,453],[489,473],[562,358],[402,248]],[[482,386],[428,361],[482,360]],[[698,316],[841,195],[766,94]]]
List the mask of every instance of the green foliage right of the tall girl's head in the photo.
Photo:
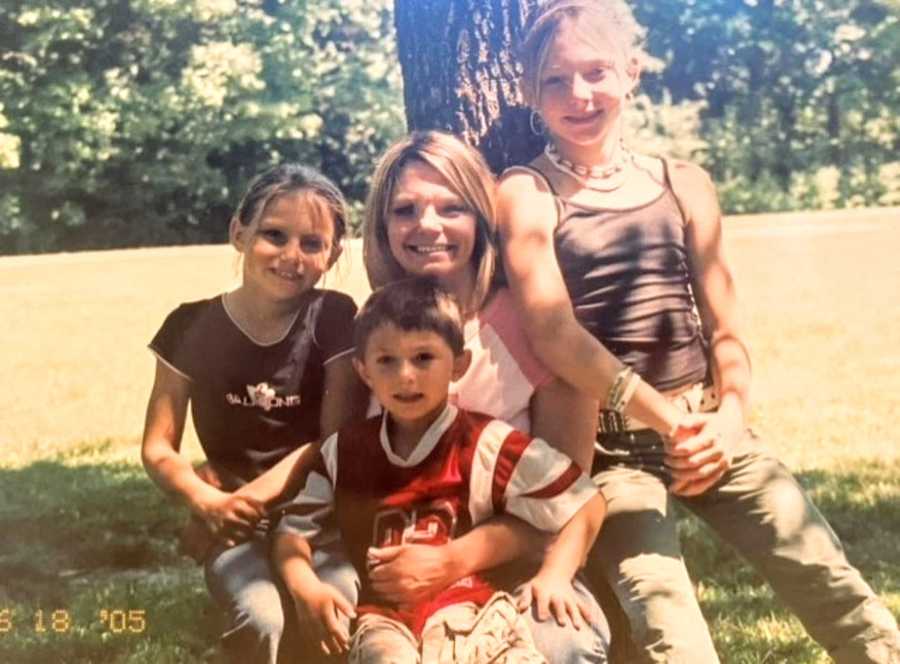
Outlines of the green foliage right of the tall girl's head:
[[[697,157],[729,212],[896,204],[900,15],[891,0],[639,2],[654,98],[702,100]],[[893,164],[893,165],[892,165]]]

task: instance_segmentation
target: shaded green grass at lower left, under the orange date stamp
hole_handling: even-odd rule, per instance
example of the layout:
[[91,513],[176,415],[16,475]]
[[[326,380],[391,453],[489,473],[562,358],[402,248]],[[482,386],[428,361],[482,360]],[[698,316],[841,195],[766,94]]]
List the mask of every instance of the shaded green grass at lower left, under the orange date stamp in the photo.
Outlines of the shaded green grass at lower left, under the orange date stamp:
[[175,551],[183,511],[140,466],[104,462],[115,448],[0,469],[0,662],[190,662],[214,642],[200,570]]

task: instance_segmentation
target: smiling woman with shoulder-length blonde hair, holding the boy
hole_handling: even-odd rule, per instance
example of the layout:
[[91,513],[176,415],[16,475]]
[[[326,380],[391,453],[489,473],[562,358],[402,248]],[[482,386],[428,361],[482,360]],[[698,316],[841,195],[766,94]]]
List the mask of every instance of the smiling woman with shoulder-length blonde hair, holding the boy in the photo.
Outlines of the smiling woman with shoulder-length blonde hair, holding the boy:
[[[466,318],[465,348],[472,361],[451,384],[451,400],[530,431],[587,468],[597,404],[554,379],[521,332],[513,298],[502,285],[494,196],[483,159],[458,138],[428,131],[397,141],[375,169],[366,205],[369,280],[377,288],[428,276],[452,293]],[[387,597],[415,602],[457,579],[541,550],[536,531],[500,518],[445,546],[374,551],[370,579]],[[532,633],[551,664],[606,661],[606,620],[579,580],[523,589],[521,608],[532,600]]]

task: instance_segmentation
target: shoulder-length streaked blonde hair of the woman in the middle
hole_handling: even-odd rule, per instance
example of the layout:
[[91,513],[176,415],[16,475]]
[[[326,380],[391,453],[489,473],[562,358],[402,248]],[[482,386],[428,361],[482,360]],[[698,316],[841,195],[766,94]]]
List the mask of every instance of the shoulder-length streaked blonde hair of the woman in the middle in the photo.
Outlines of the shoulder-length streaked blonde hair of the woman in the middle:
[[408,279],[411,275],[394,258],[387,224],[394,190],[407,164],[422,162],[447,181],[475,214],[475,288],[466,314],[481,308],[491,288],[502,278],[497,237],[494,176],[482,156],[459,138],[440,131],[416,131],[394,143],[375,167],[363,220],[363,262],[372,288]]

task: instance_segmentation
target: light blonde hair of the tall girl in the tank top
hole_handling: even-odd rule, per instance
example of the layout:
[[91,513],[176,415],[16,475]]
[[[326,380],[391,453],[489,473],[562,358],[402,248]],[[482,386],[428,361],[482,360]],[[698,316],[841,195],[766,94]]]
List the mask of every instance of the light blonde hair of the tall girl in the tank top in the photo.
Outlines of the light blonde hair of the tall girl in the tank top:
[[605,44],[600,40],[606,38],[621,51],[629,74],[640,71],[646,59],[646,30],[624,0],[550,0],[535,9],[519,46],[522,94],[529,106],[540,101],[541,76],[564,24],[572,26],[575,36],[588,44],[602,47]]

